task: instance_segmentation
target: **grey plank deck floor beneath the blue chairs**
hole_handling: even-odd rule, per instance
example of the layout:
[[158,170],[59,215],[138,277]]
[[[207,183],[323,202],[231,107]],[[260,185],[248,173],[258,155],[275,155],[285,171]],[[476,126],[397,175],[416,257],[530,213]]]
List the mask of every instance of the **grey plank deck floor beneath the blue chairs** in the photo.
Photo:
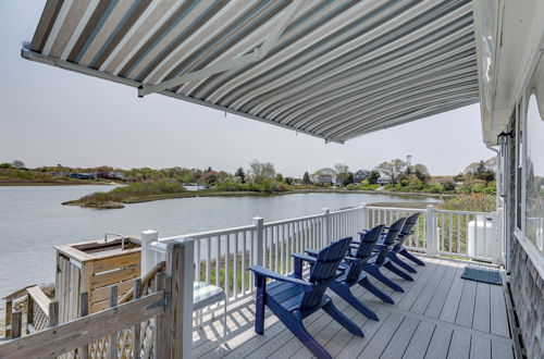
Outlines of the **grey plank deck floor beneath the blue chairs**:
[[[329,293],[335,305],[362,327],[364,338],[355,337],[323,311],[306,319],[306,327],[335,358],[514,358],[503,287],[461,280],[463,268],[473,263],[422,259],[426,265],[417,268],[415,282],[391,273],[405,293],[372,280],[395,305],[383,304],[362,287],[353,288],[378,313],[378,322],[367,320]],[[267,318],[264,335],[257,335],[254,310],[252,300],[230,309],[224,345],[219,346],[218,336],[223,331],[219,321],[195,331],[195,357],[311,358],[274,315]]]

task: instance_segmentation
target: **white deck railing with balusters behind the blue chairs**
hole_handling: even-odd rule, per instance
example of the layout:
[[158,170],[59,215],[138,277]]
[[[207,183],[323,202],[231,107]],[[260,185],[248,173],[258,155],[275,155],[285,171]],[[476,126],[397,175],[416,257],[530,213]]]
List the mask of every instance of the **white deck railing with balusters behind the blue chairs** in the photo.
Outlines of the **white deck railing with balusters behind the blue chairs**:
[[[420,216],[406,247],[429,256],[500,261],[500,238],[496,231],[496,214],[424,209],[360,207],[321,214],[264,223],[255,218],[252,224],[219,231],[158,238],[157,232],[143,233],[143,271],[164,260],[158,242],[190,242],[195,263],[194,280],[221,286],[228,302],[254,293],[249,267],[267,267],[277,273],[293,271],[290,253],[319,249],[332,240],[353,236],[363,228],[419,212]],[[156,248],[157,250],[153,250]],[[163,247],[162,247],[163,248]],[[190,253],[188,253],[190,255]]]

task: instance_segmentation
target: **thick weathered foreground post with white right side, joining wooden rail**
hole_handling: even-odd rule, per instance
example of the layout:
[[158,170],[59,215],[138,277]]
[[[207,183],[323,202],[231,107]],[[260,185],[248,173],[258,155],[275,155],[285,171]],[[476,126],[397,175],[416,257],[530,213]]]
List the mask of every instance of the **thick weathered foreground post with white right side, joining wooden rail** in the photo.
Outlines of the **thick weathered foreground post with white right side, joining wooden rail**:
[[193,357],[194,246],[191,238],[184,238],[168,247],[166,274],[172,281],[172,299],[165,314],[170,318],[170,358]]

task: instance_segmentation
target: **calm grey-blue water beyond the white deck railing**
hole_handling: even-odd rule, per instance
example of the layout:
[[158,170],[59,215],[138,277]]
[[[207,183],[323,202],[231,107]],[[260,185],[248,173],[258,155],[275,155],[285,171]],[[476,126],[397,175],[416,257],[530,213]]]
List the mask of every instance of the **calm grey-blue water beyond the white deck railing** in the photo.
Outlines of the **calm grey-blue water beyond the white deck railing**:
[[[54,249],[61,244],[102,238],[106,231],[138,234],[156,230],[160,236],[219,230],[386,201],[436,201],[424,197],[385,194],[296,194],[272,197],[201,197],[127,205],[118,210],[94,210],[61,202],[102,186],[0,187],[0,298],[29,284],[54,281]],[[3,306],[3,302],[0,307]]]

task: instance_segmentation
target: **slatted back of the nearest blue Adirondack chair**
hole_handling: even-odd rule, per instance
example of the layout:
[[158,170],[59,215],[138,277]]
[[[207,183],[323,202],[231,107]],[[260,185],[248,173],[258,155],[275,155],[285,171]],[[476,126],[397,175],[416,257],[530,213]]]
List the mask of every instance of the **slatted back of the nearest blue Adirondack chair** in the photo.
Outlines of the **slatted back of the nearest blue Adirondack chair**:
[[346,251],[351,243],[351,237],[343,238],[323,248],[311,267],[309,282],[313,283],[313,288],[306,290],[300,310],[311,309],[321,304],[326,285],[336,277],[338,265],[346,256]]

